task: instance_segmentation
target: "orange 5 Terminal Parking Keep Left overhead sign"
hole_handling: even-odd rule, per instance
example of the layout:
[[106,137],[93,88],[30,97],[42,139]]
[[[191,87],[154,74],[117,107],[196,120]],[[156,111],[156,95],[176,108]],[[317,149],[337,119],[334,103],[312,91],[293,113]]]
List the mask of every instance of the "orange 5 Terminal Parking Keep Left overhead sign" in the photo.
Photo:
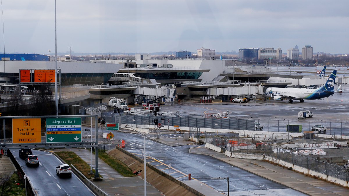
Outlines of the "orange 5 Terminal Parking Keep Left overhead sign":
[[12,143],[40,143],[41,119],[12,119]]

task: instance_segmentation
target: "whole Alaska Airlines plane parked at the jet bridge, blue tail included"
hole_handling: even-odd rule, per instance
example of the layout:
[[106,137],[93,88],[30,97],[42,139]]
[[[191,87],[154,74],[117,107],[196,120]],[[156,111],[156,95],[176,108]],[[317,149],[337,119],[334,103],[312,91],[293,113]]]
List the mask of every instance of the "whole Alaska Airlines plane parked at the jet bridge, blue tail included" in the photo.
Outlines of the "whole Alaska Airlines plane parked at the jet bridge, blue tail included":
[[317,89],[296,89],[296,88],[267,88],[264,93],[265,97],[273,97],[274,100],[282,101],[288,99],[292,103],[293,99],[304,102],[304,99],[321,99],[334,94],[334,83],[336,81],[337,70],[327,78],[323,86]]

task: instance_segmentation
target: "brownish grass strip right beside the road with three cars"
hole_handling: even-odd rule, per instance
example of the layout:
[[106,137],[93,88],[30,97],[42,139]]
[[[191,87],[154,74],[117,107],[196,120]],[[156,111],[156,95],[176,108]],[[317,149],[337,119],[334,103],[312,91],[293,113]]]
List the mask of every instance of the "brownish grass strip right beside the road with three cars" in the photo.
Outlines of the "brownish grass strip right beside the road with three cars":
[[[87,164],[84,160],[82,160],[77,154],[69,151],[60,151],[56,152],[56,154],[63,159],[68,165],[73,164],[74,167],[79,170],[86,178],[91,179],[95,177],[95,174],[90,174],[90,165]],[[95,173],[95,169],[92,169]],[[101,175],[99,177],[102,178]]]

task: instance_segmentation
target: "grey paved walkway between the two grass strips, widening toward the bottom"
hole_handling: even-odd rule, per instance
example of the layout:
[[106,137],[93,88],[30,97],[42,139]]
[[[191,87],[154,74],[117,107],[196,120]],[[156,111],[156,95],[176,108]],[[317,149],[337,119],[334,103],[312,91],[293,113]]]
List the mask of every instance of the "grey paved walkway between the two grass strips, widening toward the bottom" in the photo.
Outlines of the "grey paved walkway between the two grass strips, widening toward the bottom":
[[[73,151],[87,164],[91,163],[90,149],[55,149],[58,151]],[[95,169],[95,156],[92,154],[92,168]],[[98,173],[103,177],[103,181],[93,182],[96,186],[105,191],[108,195],[144,195],[144,180],[139,177],[124,177],[112,167],[98,159]],[[147,183],[147,195],[163,196],[151,184]]]

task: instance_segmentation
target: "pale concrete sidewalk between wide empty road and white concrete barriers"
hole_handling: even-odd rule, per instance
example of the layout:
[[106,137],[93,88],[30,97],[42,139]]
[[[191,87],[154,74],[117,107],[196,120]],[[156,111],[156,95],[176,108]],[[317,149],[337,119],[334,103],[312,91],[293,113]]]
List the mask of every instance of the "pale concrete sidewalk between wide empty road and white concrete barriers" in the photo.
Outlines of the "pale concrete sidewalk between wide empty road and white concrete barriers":
[[286,187],[309,195],[349,195],[349,189],[324,182],[304,174],[254,159],[229,158],[223,153],[205,147],[190,148],[190,153],[206,154],[232,166],[244,169],[255,175],[272,180]]

